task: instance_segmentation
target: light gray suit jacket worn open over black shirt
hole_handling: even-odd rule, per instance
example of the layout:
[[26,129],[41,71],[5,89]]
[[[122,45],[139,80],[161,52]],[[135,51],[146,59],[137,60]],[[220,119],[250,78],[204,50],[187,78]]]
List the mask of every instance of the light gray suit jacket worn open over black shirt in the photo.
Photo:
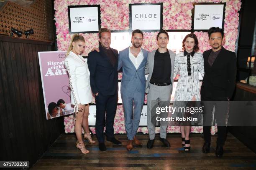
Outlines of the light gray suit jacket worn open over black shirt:
[[[151,79],[153,69],[154,69],[155,53],[156,53],[156,50],[153,50],[152,52],[148,53],[148,61],[146,63],[146,67],[145,67],[145,75],[148,74],[148,78],[146,81],[146,93],[149,92],[149,88],[150,88],[149,81]],[[176,56],[176,53],[173,52],[172,50],[169,50],[169,54],[170,54],[171,65],[172,65],[171,82],[172,82],[172,87],[173,87],[173,69],[174,69],[174,58]],[[171,93],[172,93],[172,89],[171,89]]]

